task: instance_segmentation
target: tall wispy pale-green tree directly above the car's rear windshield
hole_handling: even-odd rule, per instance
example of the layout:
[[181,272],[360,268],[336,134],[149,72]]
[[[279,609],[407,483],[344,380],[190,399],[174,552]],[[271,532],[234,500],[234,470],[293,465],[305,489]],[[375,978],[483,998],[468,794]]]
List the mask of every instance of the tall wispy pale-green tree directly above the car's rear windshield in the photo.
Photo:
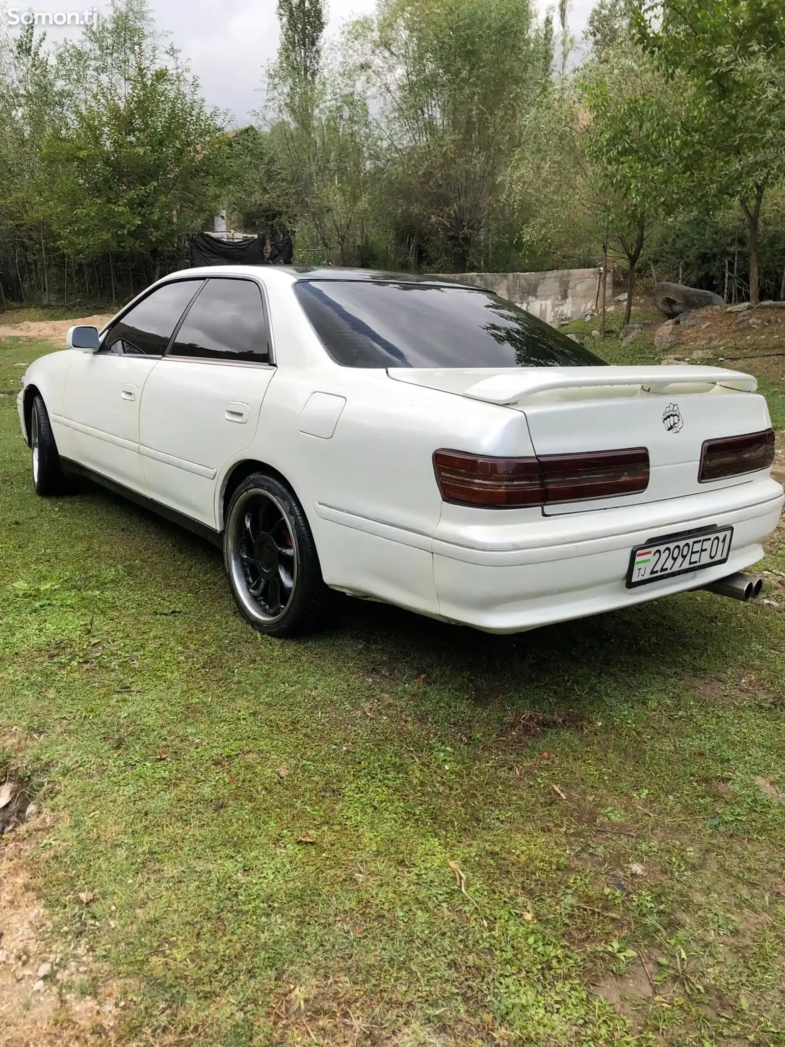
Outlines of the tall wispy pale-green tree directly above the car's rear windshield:
[[[553,55],[553,34],[548,44]],[[380,5],[365,79],[388,214],[414,260],[465,271],[490,253],[521,119],[543,90],[544,47],[530,0]]]

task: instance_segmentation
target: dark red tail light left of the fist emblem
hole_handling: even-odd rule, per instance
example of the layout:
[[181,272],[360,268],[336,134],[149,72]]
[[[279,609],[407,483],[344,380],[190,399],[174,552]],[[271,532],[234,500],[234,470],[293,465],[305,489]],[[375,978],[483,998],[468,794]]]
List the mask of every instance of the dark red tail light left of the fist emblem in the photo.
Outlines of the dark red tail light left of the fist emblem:
[[640,494],[649,486],[645,447],[525,459],[439,450],[433,469],[445,502],[488,509],[612,498]]

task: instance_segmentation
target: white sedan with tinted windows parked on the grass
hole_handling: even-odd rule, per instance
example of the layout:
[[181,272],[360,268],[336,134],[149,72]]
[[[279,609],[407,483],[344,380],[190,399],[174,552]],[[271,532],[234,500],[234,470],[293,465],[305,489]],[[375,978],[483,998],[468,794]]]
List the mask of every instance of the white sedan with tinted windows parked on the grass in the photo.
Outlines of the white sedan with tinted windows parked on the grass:
[[174,273],[37,360],[36,490],[81,474],[223,548],[293,636],[329,589],[518,632],[748,598],[783,490],[756,380],[605,364],[496,295],[351,269]]

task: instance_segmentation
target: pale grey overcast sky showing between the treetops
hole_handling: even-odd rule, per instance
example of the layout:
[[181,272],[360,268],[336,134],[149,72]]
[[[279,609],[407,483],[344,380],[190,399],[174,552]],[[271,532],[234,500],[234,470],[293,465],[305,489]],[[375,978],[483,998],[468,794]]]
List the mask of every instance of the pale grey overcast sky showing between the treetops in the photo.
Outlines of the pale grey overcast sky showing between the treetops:
[[[0,0],[0,12],[76,12],[91,7],[94,0]],[[483,0],[477,0],[483,3]],[[535,0],[541,13],[554,6],[553,0]],[[105,4],[97,0],[100,12]],[[592,0],[573,0],[570,27],[580,37],[586,25]],[[276,0],[152,0],[158,27],[169,34],[199,77],[202,92],[210,105],[228,109],[234,122],[248,122],[251,110],[262,102],[260,85],[264,66],[274,59],[277,49],[278,22]],[[366,15],[376,0],[328,0],[329,36],[335,36],[342,22],[356,15]],[[47,29],[51,41],[63,39],[73,29]]]

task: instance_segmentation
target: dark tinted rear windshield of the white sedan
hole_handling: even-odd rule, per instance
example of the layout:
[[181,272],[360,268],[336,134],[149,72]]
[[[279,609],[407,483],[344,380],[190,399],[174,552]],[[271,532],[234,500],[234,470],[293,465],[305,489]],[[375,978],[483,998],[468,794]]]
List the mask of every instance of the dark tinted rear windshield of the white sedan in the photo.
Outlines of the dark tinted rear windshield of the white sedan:
[[294,293],[345,367],[597,366],[605,361],[490,291],[300,281]]

